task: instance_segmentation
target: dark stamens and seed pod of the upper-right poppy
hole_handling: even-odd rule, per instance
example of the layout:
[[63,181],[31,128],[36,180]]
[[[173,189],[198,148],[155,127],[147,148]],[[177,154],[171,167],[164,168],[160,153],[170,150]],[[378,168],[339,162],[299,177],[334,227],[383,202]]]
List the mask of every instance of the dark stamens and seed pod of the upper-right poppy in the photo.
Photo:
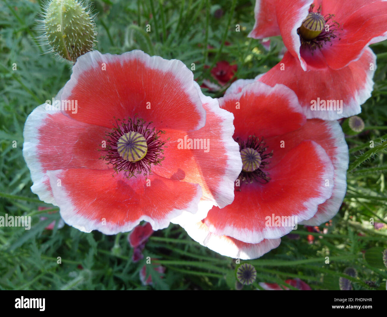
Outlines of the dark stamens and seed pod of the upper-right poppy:
[[340,24],[332,19],[334,14],[324,16],[321,14],[321,5],[317,12],[313,12],[314,7],[314,4],[310,6],[309,14],[297,30],[301,45],[308,46],[311,50],[322,48],[325,43],[332,42],[332,39],[339,36],[340,27]]

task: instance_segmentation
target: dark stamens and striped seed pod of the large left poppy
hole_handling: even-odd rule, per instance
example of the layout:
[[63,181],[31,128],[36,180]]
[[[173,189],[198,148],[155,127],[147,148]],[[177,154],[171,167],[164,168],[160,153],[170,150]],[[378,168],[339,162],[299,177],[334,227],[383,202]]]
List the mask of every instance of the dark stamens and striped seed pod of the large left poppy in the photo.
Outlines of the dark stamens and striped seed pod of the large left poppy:
[[104,155],[101,159],[106,164],[112,164],[116,173],[123,171],[129,178],[138,174],[151,174],[151,165],[161,165],[164,159],[160,134],[164,131],[150,129],[142,119],[116,119],[111,132],[107,132],[106,148],[102,148]]

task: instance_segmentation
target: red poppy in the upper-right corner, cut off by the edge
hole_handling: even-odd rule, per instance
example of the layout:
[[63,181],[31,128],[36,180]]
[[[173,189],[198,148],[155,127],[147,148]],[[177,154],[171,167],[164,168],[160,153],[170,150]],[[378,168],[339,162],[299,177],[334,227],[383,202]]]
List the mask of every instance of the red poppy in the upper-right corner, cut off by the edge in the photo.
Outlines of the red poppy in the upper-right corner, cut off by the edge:
[[[371,96],[376,69],[368,45],[387,38],[387,2],[257,0],[254,12],[249,36],[281,35],[288,48],[262,82],[293,89],[308,118],[334,120],[360,113],[360,105]],[[342,109],[324,111],[321,104],[322,110],[312,110],[317,98],[342,101]]]

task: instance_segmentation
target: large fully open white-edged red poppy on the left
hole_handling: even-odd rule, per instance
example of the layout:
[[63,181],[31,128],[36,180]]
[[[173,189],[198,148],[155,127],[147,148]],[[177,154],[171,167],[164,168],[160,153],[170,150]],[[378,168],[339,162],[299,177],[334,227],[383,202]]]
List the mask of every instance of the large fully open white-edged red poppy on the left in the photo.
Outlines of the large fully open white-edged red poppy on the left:
[[27,118],[23,155],[31,190],[66,223],[115,234],[145,220],[159,230],[197,212],[201,198],[232,202],[241,168],[233,115],[182,62],[92,51],[53,102]]

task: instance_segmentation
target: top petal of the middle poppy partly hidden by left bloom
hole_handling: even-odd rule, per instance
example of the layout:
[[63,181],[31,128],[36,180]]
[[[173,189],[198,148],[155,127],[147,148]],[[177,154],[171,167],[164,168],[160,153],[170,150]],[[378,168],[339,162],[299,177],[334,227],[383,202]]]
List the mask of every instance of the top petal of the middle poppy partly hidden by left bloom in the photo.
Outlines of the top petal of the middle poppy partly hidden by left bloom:
[[219,98],[219,105],[234,114],[234,139],[247,139],[253,133],[265,138],[281,135],[305,123],[297,97],[282,85],[247,84],[241,93]]

